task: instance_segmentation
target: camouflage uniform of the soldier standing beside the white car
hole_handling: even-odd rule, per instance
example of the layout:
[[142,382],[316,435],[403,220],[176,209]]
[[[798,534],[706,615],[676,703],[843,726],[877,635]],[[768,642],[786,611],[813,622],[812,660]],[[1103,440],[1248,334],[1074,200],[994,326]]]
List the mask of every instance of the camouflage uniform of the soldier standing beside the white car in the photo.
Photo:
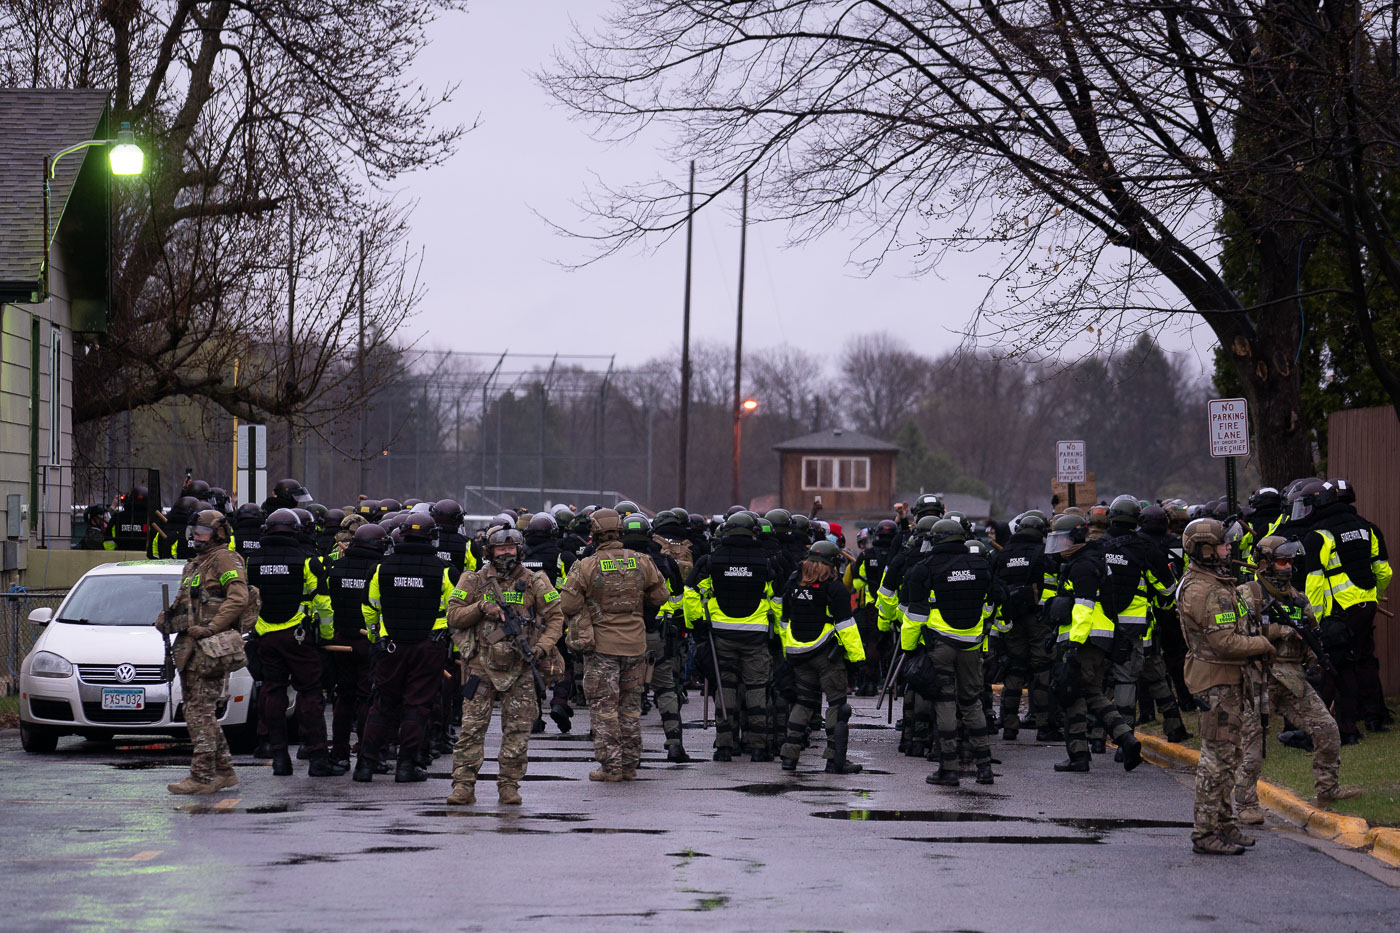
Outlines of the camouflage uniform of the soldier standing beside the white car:
[[[244,559],[227,546],[213,546],[185,565],[179,594],[169,612],[162,614],[157,622],[162,633],[179,632],[172,653],[185,699],[185,724],[195,745],[189,783],[209,786],[209,790],[196,793],[209,793],[220,786],[231,787],[238,779],[234,776],[228,740],[216,716],[216,705],[228,677],[209,675],[200,670],[197,639],[192,637],[190,629],[207,629],[204,637],[234,629],[246,602],[248,574]],[[178,786],[171,785],[171,789]]]

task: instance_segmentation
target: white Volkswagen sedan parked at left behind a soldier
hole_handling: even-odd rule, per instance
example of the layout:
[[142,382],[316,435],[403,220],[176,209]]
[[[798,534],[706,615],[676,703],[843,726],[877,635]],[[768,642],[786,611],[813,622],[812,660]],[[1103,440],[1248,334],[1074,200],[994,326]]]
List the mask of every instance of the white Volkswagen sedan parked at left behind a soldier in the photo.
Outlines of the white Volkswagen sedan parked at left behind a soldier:
[[[174,597],[179,560],[108,563],[83,579],[52,609],[34,609],[43,626],[20,667],[20,738],[29,752],[50,752],[62,735],[188,735],[179,677],[162,677],[165,637],[151,625],[162,586]],[[174,639],[171,639],[174,640]],[[228,678],[218,721],[235,749],[251,751],[256,685],[248,668]]]

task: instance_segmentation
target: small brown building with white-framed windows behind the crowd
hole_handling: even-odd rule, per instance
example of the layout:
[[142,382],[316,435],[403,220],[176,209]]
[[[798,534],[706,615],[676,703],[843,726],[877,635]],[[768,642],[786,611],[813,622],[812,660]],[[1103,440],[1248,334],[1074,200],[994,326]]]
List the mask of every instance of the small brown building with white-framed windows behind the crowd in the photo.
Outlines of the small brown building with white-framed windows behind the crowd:
[[820,517],[851,521],[883,517],[895,502],[896,444],[833,427],[785,440],[773,450],[778,452],[783,509],[811,513],[820,496]]

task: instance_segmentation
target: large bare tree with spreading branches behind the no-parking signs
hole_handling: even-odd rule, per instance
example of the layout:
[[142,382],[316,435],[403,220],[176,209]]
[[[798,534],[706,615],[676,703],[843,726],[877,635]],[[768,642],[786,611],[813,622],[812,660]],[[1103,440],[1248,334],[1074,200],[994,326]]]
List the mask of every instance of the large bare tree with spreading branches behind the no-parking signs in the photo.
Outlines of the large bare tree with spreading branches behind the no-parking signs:
[[[701,207],[748,177],[756,212],[795,240],[862,224],[872,263],[1000,249],[969,332],[1012,353],[1204,322],[1278,482],[1312,468],[1292,366],[1306,234],[1355,240],[1348,224],[1371,223],[1375,247],[1389,233],[1336,198],[1357,150],[1336,143],[1371,111],[1326,76],[1357,73],[1348,38],[1394,49],[1396,24],[1394,3],[1303,0],[620,0],[543,81],[602,133],[669,132],[699,160]],[[1369,80],[1394,112],[1396,69]],[[1319,119],[1347,105],[1351,130]],[[1387,151],[1365,150],[1347,189],[1366,191]],[[587,206],[606,248],[686,214],[666,181]],[[1219,275],[1225,214],[1259,272],[1250,304]]]

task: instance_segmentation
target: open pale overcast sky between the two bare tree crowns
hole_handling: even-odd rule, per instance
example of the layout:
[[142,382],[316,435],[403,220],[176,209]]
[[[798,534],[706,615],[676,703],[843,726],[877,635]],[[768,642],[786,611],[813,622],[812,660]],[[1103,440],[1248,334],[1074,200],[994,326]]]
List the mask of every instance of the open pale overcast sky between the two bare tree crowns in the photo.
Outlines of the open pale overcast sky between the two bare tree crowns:
[[[426,349],[500,353],[617,353],[630,366],[680,342],[685,238],[654,252],[627,251],[581,270],[589,247],[559,235],[539,216],[573,223],[571,200],[601,175],[613,184],[666,167],[650,140],[605,146],[531,78],[568,42],[570,17],[588,28],[610,0],[477,0],[433,28],[419,63],[428,87],[461,81],[442,109],[445,122],[480,126],[445,164],[406,179],[414,202],[416,244],[426,249],[427,298],[409,333]],[[738,196],[735,196],[738,200]],[[738,203],[734,214],[696,221],[692,339],[734,340],[738,277]],[[749,228],[745,347],[792,343],[832,354],[851,333],[890,331],[910,349],[939,353],[958,345],[981,297],[991,254],[959,258],[942,277],[911,276],[896,259],[871,277],[847,262],[855,242],[840,233],[783,248],[785,228]],[[1170,336],[1169,347],[1201,364],[1208,340]]]

